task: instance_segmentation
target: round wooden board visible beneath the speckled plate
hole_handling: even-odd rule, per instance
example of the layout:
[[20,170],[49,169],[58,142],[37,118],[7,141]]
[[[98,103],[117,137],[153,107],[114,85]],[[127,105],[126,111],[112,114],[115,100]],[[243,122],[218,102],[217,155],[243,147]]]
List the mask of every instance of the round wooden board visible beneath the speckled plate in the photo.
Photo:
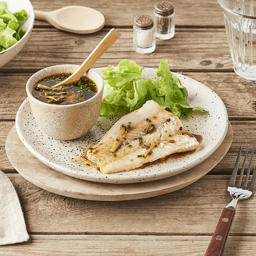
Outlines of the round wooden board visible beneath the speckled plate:
[[9,133],[5,150],[11,164],[28,181],[49,192],[66,197],[97,200],[122,201],[154,197],[187,187],[197,181],[226,155],[233,139],[229,123],[228,132],[219,148],[199,165],[169,178],[130,184],[109,184],[80,180],[55,171],[37,160],[21,142],[14,126]]

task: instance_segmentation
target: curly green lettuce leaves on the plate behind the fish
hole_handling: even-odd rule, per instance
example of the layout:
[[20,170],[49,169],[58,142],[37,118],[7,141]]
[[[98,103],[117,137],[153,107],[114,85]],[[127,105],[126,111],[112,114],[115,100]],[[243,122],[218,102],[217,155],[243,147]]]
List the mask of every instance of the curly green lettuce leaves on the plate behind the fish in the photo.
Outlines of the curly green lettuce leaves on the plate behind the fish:
[[156,71],[157,79],[142,79],[140,67],[134,61],[122,60],[114,69],[108,66],[101,70],[104,76],[104,91],[100,115],[118,112],[124,106],[128,112],[139,109],[148,100],[156,101],[160,107],[180,117],[182,113],[203,107],[189,106],[187,89],[169,69],[168,61],[161,61]]

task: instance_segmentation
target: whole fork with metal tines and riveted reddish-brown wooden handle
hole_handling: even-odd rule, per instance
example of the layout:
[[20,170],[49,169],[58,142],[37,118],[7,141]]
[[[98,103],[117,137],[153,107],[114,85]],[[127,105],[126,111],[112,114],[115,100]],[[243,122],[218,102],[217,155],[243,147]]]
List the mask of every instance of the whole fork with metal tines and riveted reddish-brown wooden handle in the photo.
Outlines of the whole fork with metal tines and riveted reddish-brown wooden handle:
[[236,180],[238,165],[239,165],[240,156],[241,156],[241,152],[242,152],[242,145],[240,146],[237,160],[235,162],[235,168],[232,172],[232,175],[231,175],[231,178],[229,181],[229,186],[228,186],[228,192],[229,192],[230,196],[232,197],[232,199],[229,201],[227,206],[224,208],[224,210],[220,216],[219,222],[218,222],[217,227],[213,233],[213,237],[210,241],[210,244],[205,253],[205,256],[222,256],[223,255],[224,248],[225,248],[226,242],[229,237],[229,232],[230,232],[231,226],[233,224],[233,220],[235,218],[236,204],[237,204],[238,200],[240,200],[240,199],[247,199],[247,198],[251,197],[251,195],[254,191],[254,187],[255,187],[255,183],[256,183],[256,171],[255,171],[256,166],[255,166],[253,174],[252,174],[250,187],[248,189],[246,189],[249,175],[250,175],[250,170],[251,170],[251,163],[252,163],[252,158],[253,158],[253,153],[254,153],[254,147],[251,152],[251,160],[248,165],[247,172],[246,172],[244,185],[241,188],[243,174],[245,171],[245,162],[246,162],[246,158],[247,158],[247,154],[248,154],[248,149],[249,149],[249,146],[247,146],[247,149],[245,152],[245,159],[244,159],[244,162],[242,165],[242,170],[240,172],[240,177],[239,177],[237,186],[235,187],[235,180]]

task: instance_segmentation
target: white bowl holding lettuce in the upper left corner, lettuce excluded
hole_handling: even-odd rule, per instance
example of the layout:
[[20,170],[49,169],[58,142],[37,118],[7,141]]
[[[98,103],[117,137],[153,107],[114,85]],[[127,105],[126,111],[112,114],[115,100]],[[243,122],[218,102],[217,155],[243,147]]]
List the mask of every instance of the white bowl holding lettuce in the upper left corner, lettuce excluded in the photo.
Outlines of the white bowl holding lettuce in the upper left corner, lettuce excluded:
[[31,35],[32,28],[35,22],[34,9],[29,0],[4,0],[7,4],[7,8],[11,12],[16,12],[24,9],[27,11],[27,21],[21,26],[26,32],[25,35],[13,46],[7,48],[6,50],[0,52],[0,68],[11,61],[25,46],[28,38]]

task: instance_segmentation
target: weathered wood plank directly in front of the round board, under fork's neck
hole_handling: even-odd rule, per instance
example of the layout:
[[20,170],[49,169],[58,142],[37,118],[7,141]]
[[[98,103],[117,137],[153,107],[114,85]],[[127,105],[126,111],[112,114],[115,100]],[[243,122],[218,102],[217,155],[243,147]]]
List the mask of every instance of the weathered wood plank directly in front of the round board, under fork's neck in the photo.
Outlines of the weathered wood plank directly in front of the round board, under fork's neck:
[[[28,232],[32,234],[212,235],[229,202],[230,176],[206,175],[162,196],[101,202],[59,196],[19,174],[7,175],[16,187]],[[255,236],[255,211],[256,196],[241,200],[230,234]]]

